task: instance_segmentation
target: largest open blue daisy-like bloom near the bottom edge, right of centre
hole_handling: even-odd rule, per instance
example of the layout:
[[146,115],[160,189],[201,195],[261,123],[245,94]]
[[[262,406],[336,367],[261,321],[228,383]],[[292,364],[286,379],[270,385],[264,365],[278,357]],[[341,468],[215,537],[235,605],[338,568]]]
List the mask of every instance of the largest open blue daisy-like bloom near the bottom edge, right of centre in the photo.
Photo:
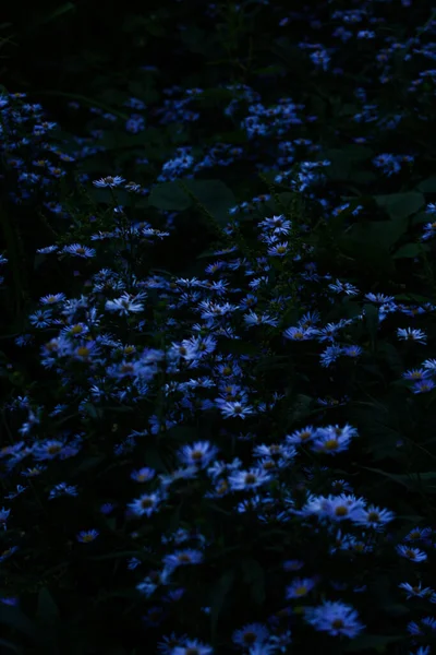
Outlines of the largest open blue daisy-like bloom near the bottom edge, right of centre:
[[306,607],[304,608],[304,619],[315,630],[328,632],[332,636],[343,634],[353,639],[364,629],[355,609],[343,603],[326,600],[318,607]]

